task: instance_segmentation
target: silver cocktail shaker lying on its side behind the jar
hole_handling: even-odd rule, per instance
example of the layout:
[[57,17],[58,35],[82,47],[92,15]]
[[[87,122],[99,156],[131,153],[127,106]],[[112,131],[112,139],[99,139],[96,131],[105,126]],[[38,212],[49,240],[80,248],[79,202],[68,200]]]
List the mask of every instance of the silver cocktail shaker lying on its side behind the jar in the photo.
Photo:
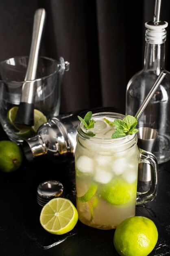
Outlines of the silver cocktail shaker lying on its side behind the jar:
[[118,112],[116,108],[103,107],[61,114],[52,117],[47,123],[40,126],[37,135],[23,142],[23,151],[26,159],[31,162],[37,157],[46,157],[48,160],[61,164],[74,161],[76,147],[78,115],[84,118],[88,111]]

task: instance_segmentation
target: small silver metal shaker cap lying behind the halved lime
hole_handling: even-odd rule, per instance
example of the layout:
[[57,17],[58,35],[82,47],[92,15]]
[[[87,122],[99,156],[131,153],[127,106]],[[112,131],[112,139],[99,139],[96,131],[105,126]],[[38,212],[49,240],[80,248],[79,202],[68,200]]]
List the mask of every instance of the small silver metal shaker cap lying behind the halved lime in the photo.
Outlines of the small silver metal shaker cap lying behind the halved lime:
[[37,188],[37,202],[44,206],[52,198],[60,197],[63,194],[63,184],[57,180],[41,182]]

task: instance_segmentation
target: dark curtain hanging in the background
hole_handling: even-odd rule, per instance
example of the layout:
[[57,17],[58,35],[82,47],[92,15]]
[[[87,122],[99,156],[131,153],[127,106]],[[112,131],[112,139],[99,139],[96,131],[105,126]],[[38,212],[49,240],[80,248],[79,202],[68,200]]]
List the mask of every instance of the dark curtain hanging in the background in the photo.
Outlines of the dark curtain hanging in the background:
[[[144,23],[153,19],[154,6],[155,0],[0,0],[0,61],[29,54],[33,16],[43,7],[41,55],[70,62],[61,112],[114,106],[125,113],[126,85],[143,68]],[[170,21],[169,0],[162,0],[161,20]]]

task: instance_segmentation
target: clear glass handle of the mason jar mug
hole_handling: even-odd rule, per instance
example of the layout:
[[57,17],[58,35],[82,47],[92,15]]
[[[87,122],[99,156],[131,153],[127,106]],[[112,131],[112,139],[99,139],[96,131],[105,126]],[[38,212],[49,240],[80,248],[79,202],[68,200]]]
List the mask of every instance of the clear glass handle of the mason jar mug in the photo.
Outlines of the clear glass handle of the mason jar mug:
[[136,204],[142,204],[152,201],[157,195],[158,187],[158,163],[155,155],[139,148],[139,164],[146,163],[150,165],[151,184],[146,192],[137,192]]

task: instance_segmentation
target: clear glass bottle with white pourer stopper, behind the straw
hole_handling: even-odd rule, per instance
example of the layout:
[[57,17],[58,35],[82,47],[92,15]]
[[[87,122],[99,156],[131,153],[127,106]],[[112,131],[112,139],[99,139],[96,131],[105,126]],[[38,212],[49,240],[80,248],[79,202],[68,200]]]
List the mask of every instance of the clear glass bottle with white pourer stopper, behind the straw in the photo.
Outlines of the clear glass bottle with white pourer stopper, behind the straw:
[[[144,69],[135,74],[126,88],[126,115],[135,115],[164,69],[167,22],[146,22]],[[170,159],[170,72],[159,85],[150,103],[141,115],[137,127],[150,127],[158,132],[153,149],[158,163]]]

